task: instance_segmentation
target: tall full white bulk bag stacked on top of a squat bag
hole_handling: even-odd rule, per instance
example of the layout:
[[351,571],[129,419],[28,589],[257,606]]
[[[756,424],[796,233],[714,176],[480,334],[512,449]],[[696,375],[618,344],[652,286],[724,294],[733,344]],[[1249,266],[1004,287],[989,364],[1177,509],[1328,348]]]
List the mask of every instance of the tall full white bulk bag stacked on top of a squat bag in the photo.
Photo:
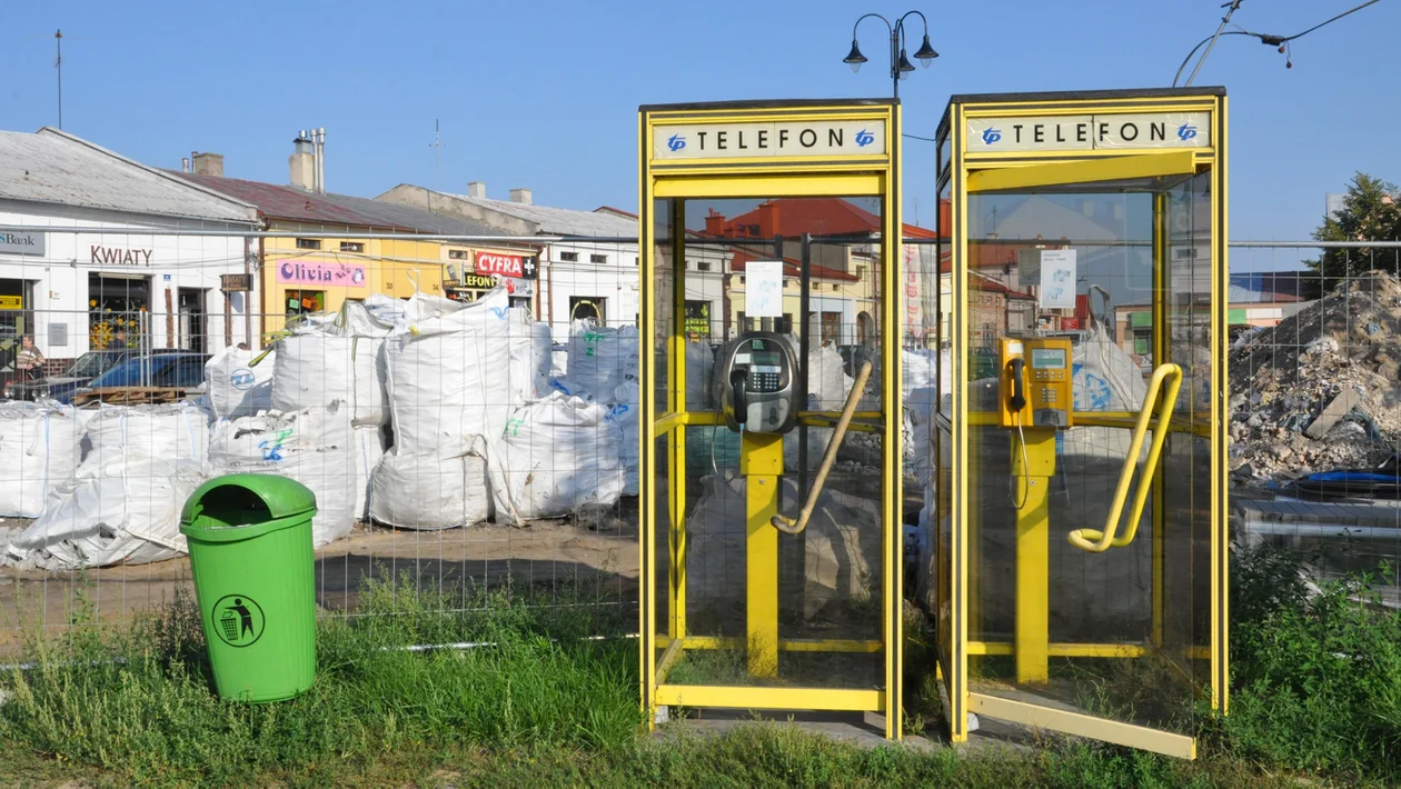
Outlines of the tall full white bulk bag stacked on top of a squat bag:
[[385,343],[395,451],[455,457],[475,436],[502,434],[523,402],[511,383],[509,318],[497,289]]

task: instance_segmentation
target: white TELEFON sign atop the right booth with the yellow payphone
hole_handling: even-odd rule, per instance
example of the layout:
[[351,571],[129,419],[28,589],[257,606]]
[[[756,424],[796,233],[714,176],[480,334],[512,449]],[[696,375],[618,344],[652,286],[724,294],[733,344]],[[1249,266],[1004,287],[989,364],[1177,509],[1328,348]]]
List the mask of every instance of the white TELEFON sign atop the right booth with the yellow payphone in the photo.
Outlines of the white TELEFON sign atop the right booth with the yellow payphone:
[[1017,115],[968,121],[968,153],[1205,149],[1209,112]]

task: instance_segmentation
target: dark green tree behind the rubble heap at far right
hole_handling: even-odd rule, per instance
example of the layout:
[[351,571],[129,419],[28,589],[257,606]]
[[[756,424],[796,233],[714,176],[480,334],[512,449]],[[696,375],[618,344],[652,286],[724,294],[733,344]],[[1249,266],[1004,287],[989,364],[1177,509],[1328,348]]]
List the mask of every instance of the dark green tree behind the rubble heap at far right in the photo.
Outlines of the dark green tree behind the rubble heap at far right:
[[[1313,237],[1314,241],[1401,240],[1401,196],[1395,184],[1358,172],[1342,198],[1342,210],[1325,216]],[[1304,262],[1318,273],[1307,287],[1313,297],[1321,296],[1344,277],[1373,269],[1401,275],[1401,249],[1395,248],[1324,249],[1318,259]]]

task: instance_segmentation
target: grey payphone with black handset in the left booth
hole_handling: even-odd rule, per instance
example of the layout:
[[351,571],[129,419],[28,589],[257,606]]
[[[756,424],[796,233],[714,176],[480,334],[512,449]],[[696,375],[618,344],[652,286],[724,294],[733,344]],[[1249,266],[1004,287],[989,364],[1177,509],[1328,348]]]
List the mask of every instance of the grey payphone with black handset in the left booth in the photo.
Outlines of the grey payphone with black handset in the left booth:
[[797,425],[797,357],[773,332],[745,332],[720,349],[712,377],[715,402],[736,432],[787,433]]

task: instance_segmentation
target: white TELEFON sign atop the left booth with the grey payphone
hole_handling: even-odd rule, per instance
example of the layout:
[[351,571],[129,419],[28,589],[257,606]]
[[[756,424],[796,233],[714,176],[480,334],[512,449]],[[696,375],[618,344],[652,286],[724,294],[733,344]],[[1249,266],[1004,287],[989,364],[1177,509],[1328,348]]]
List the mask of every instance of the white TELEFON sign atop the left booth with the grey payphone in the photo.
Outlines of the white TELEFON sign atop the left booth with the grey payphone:
[[654,126],[653,160],[884,156],[884,121]]

